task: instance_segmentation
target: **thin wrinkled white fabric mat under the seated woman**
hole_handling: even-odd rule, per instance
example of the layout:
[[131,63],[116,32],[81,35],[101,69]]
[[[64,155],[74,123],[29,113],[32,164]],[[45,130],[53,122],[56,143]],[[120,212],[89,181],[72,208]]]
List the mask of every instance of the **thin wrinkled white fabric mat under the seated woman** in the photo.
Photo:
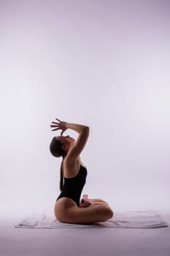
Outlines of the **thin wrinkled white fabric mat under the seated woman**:
[[168,227],[169,225],[163,221],[161,214],[157,211],[123,211],[115,212],[114,217],[107,222],[98,222],[93,225],[77,225],[58,222],[54,214],[32,213],[23,219],[15,227],[20,228],[77,228],[77,227],[93,227],[93,228],[155,228]]

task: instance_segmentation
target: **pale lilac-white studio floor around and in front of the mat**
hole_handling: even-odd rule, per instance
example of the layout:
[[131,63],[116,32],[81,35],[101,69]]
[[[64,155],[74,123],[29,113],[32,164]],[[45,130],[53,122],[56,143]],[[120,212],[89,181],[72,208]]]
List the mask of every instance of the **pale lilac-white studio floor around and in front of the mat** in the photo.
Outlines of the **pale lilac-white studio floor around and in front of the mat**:
[[161,213],[169,227],[155,229],[15,228],[20,219],[0,221],[1,256],[169,256],[170,213]]

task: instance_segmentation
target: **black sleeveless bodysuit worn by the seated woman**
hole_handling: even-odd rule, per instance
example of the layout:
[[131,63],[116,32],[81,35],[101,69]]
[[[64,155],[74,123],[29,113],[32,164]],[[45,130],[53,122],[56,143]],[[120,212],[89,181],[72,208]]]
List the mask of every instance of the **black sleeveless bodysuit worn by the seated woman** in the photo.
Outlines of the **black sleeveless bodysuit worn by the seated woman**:
[[57,200],[62,197],[69,197],[77,203],[77,206],[80,206],[80,195],[83,187],[85,186],[87,173],[87,169],[80,165],[80,170],[77,176],[73,178],[64,177],[63,190]]

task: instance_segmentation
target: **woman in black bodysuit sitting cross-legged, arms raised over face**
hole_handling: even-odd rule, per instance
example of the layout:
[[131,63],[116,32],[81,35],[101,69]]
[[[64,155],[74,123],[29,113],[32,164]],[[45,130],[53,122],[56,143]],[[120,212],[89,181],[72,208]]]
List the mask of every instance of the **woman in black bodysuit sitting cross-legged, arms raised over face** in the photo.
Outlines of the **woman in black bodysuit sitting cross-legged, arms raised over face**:
[[[80,195],[85,185],[87,169],[82,164],[80,154],[88,140],[89,127],[82,124],[70,124],[65,121],[52,122],[52,131],[61,129],[61,136],[54,137],[50,151],[54,157],[63,157],[61,162],[61,194],[58,196],[54,213],[60,222],[93,224],[112,218],[113,211],[108,203],[101,199],[88,199]],[[66,129],[78,132],[77,140],[63,136]],[[64,179],[64,183],[63,183]]]

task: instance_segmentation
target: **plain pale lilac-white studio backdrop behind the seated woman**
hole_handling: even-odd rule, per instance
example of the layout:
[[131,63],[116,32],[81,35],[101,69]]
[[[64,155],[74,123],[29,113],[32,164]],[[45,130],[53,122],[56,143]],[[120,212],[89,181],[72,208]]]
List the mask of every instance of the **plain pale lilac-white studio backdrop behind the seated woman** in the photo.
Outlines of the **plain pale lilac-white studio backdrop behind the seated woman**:
[[53,211],[55,118],[90,127],[84,193],[115,211],[169,210],[169,8],[0,1],[0,215]]

